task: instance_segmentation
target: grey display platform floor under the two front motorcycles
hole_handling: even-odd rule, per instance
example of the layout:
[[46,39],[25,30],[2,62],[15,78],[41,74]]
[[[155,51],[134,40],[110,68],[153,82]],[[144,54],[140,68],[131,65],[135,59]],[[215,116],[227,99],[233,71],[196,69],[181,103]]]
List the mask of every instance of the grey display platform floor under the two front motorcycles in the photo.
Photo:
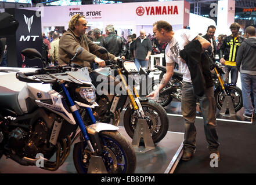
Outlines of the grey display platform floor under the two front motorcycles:
[[[132,142],[124,127],[120,127],[119,132]],[[176,158],[182,151],[183,137],[183,133],[168,132],[155,149],[146,153],[136,152],[135,173],[169,173],[174,171]],[[73,164],[72,151],[73,149],[64,164],[54,172],[45,171],[36,166],[22,166],[3,156],[0,160],[0,173],[77,173]]]

